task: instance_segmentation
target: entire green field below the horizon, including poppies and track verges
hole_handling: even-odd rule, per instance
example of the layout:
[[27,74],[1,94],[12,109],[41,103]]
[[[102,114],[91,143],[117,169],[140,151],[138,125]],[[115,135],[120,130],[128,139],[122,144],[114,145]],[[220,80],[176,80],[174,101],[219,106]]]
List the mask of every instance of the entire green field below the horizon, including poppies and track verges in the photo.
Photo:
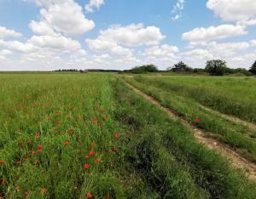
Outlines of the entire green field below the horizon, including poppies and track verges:
[[2,198],[256,197],[255,78],[2,73],[0,85]]

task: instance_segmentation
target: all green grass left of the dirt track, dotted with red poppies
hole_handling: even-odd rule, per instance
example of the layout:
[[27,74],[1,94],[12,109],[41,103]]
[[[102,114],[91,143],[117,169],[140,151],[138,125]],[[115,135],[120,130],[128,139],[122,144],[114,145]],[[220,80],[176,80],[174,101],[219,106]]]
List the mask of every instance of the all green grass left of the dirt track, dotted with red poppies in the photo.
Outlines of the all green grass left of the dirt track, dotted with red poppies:
[[253,198],[255,184],[105,74],[0,74],[0,197]]

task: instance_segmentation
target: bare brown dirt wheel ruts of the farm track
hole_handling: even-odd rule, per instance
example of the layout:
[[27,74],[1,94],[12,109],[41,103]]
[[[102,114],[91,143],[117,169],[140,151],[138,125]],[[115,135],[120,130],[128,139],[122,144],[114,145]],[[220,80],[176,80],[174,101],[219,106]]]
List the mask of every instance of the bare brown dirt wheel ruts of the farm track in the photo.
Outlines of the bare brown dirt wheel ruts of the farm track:
[[[207,145],[207,147],[211,150],[217,150],[225,156],[234,167],[240,168],[244,170],[247,173],[248,179],[252,179],[253,181],[256,181],[256,165],[253,162],[249,162],[246,158],[239,155],[236,151],[233,151],[230,149],[228,145],[224,145],[223,143],[219,143],[218,140],[212,139],[209,137],[206,137],[207,132],[203,131],[200,128],[196,128],[194,125],[192,125],[190,122],[186,121],[182,117],[179,117],[175,111],[172,111],[171,109],[168,109],[162,105],[160,105],[160,102],[153,97],[149,96],[148,94],[145,94],[143,91],[139,90],[138,88],[135,88],[130,83],[125,82],[126,86],[131,88],[135,93],[143,96],[143,98],[148,99],[152,104],[158,106],[162,111],[165,111],[166,114],[174,119],[175,121],[182,122],[183,125],[189,129],[194,135],[195,139],[197,139],[201,144]],[[221,113],[220,113],[221,114]],[[225,117],[227,117],[225,115]],[[230,120],[232,119],[233,122],[242,122],[239,119],[230,117]],[[253,128],[253,126],[251,126]]]

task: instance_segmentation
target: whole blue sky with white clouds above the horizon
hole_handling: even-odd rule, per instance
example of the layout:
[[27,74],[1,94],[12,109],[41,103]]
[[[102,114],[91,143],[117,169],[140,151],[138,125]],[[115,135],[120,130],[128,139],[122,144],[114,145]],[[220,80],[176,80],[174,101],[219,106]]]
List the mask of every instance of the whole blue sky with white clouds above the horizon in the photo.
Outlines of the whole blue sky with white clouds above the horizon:
[[255,0],[0,0],[0,71],[256,60]]

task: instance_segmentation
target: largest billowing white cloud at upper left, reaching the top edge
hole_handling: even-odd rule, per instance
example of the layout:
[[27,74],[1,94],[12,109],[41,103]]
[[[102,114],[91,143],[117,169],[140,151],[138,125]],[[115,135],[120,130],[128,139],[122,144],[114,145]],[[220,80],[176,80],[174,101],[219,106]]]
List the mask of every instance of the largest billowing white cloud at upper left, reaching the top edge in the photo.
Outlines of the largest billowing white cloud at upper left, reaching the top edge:
[[38,35],[53,35],[55,31],[69,36],[82,35],[95,27],[93,20],[87,20],[82,7],[73,0],[40,1],[38,4],[45,6],[40,11],[41,20],[32,20],[29,25]]

